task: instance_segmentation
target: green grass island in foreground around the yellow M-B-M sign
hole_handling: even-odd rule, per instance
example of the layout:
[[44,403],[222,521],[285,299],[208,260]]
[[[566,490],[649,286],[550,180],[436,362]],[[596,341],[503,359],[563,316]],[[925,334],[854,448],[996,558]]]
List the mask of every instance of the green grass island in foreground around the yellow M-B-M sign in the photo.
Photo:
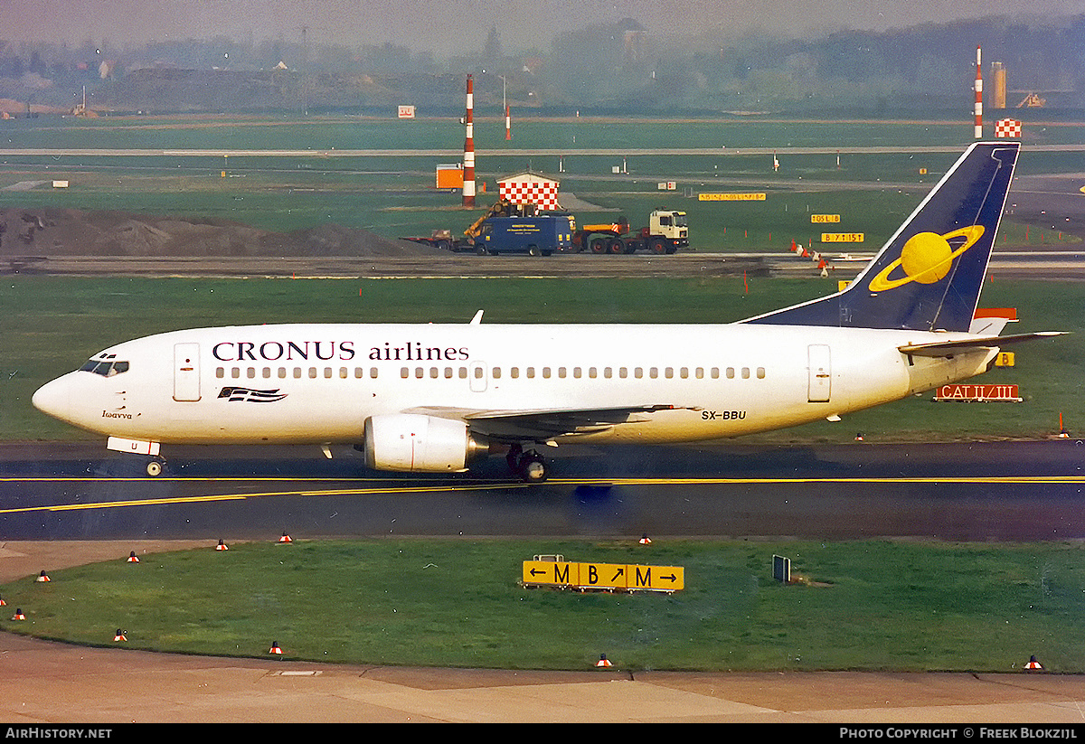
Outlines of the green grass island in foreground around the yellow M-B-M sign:
[[[332,663],[634,670],[1081,672],[1080,544],[545,540],[250,543],[0,587],[0,627],[126,647]],[[519,586],[535,553],[679,565],[672,595]],[[793,583],[771,578],[792,561]],[[9,619],[15,608],[27,619]]]

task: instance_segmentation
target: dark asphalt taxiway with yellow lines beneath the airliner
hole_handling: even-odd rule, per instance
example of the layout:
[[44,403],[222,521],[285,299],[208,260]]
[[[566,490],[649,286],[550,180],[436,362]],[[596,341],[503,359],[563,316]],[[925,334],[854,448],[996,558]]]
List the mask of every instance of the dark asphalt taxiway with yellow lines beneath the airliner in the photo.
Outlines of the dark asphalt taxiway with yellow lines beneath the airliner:
[[349,448],[180,447],[167,471],[99,445],[0,446],[9,540],[339,536],[1085,537],[1081,439],[563,447],[527,486],[365,469]]

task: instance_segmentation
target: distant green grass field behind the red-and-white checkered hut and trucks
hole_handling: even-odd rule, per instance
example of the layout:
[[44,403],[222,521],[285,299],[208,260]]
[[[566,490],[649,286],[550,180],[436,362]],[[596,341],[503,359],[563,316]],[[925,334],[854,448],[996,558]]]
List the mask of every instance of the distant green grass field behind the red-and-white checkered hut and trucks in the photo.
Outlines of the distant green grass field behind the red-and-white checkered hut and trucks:
[[[1041,125],[1039,143],[1081,141],[1085,125]],[[365,228],[385,238],[429,235],[434,229],[461,231],[496,201],[496,179],[531,168],[561,179],[563,192],[615,210],[639,227],[656,207],[690,216],[694,251],[784,251],[792,240],[817,240],[809,214],[841,214],[840,230],[863,232],[865,251],[876,249],[911,211],[956,159],[956,153],[861,154],[847,147],[950,145],[969,143],[970,123],[816,123],[773,119],[676,119],[612,121],[600,118],[529,119],[503,137],[503,120],[481,117],[476,125],[478,178],[487,184],[474,211],[459,208],[456,193],[434,189],[434,169],[462,155],[463,129],[455,119],[372,119],[358,117],[187,117],[21,119],[0,129],[0,207],[76,207],[176,214],[228,219],[258,228],[290,231],[336,223]],[[5,140],[5,141],[4,141]],[[588,155],[584,150],[722,147],[718,156]],[[835,155],[781,155],[774,172],[767,155],[742,147],[840,146]],[[102,157],[21,155],[22,147],[131,150],[447,150],[447,156],[373,157],[191,157],[180,155]],[[512,149],[538,150],[532,156]],[[559,157],[564,172],[559,172]],[[614,175],[614,167],[627,172]],[[920,169],[926,168],[926,175]],[[222,178],[222,171],[227,178]],[[1082,153],[1030,152],[1020,172],[1081,172]],[[3,191],[18,181],[66,179],[29,191]],[[741,183],[736,179],[740,179]],[[660,192],[676,181],[674,192]],[[854,183],[885,184],[855,190]],[[808,187],[807,184],[819,184]],[[825,184],[828,184],[825,185]],[[839,184],[839,188],[832,188]],[[899,187],[909,187],[902,191]],[[918,190],[916,190],[918,189]],[[764,191],[765,202],[705,203],[695,194]],[[580,211],[579,223],[609,221],[614,213]],[[1023,231],[1016,235],[1023,241]],[[1060,241],[1058,233],[1029,242]],[[857,246],[852,246],[857,247]]]

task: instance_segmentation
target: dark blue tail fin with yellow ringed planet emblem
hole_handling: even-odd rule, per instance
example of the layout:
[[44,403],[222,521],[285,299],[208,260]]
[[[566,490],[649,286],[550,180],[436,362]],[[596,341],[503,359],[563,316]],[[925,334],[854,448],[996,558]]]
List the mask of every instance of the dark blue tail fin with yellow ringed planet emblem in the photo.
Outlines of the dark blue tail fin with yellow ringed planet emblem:
[[968,331],[1019,149],[971,145],[846,290],[743,322]]

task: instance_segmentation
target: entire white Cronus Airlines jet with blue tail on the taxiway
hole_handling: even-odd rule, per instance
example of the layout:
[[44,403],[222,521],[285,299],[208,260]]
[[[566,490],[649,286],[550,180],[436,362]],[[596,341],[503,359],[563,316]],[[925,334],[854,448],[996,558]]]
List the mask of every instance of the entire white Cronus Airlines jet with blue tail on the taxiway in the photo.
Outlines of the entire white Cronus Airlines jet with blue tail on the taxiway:
[[149,456],[159,445],[350,444],[369,467],[460,472],[540,446],[736,437],[971,377],[999,349],[973,316],[1018,143],[972,144],[843,292],[716,325],[284,324],[112,346],[34,395]]

